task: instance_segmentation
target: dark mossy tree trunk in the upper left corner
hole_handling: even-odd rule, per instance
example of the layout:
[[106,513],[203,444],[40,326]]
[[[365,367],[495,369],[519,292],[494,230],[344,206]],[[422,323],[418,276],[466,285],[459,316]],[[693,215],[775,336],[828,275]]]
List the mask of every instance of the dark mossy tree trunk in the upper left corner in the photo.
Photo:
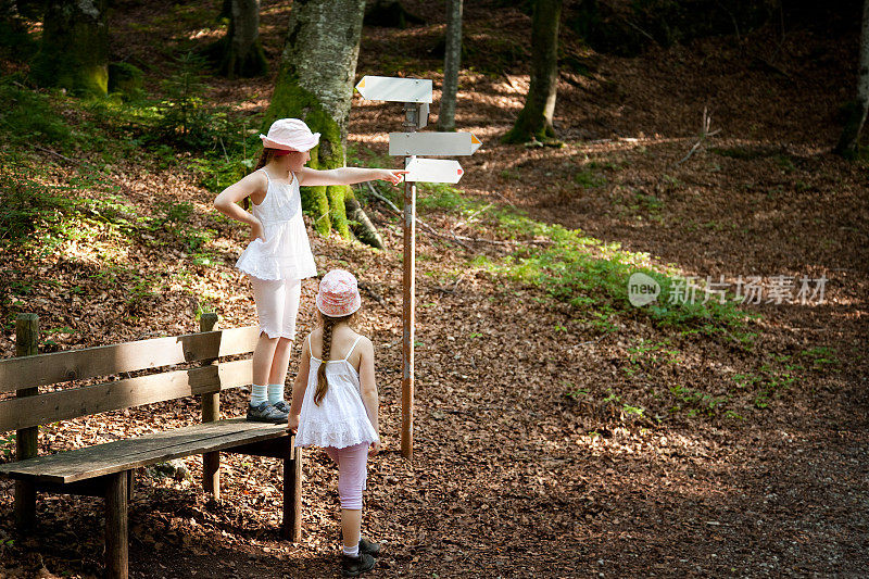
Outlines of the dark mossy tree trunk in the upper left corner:
[[109,90],[108,0],[51,0],[30,72],[42,86],[104,97]]

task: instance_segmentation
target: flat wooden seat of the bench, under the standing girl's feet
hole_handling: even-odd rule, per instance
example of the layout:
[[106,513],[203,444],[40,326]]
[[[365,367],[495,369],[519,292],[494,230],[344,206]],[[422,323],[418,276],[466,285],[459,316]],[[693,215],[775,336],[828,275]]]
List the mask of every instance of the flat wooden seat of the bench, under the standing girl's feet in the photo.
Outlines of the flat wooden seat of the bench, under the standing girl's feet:
[[0,465],[0,476],[54,483],[75,482],[140,466],[287,437],[286,425],[231,418]]

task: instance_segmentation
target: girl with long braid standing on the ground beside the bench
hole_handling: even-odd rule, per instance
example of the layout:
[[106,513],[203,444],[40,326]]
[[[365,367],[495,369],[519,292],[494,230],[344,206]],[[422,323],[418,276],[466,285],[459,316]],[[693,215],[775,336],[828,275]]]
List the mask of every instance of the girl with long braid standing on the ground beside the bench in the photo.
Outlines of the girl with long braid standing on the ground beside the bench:
[[380,552],[361,537],[367,461],[380,450],[380,436],[374,345],[350,326],[360,305],[353,274],[332,269],[323,276],[320,327],[304,341],[288,423],[297,446],[322,446],[338,464],[345,577],[373,568]]

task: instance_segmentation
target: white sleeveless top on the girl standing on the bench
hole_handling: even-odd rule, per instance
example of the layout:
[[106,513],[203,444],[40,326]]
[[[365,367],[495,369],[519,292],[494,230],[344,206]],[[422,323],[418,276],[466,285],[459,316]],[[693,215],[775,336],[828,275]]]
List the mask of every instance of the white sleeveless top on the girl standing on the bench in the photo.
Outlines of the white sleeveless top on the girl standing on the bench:
[[299,178],[275,182],[268,176],[265,199],[253,205],[253,215],[263,224],[265,241],[254,239],[241,252],[236,267],[260,279],[304,279],[317,275],[311,242],[302,219]]

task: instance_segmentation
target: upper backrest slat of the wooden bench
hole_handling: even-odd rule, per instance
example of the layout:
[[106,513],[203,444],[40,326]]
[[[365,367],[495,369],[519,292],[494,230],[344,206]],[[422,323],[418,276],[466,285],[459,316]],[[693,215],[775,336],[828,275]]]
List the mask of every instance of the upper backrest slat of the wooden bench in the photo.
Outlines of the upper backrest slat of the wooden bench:
[[253,352],[256,326],[0,360],[0,392]]

